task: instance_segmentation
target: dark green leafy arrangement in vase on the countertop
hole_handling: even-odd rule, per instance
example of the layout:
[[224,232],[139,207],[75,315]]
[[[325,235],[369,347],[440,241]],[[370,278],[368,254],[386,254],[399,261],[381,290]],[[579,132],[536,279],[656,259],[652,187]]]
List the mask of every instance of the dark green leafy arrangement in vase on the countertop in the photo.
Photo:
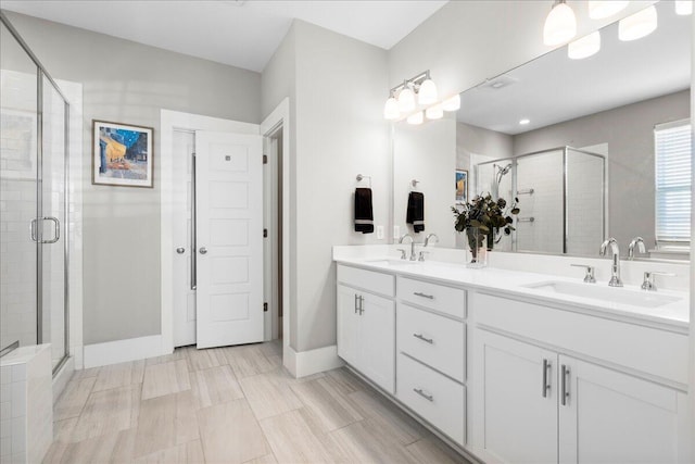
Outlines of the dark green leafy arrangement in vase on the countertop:
[[[473,262],[476,250],[483,246],[485,237],[488,250],[492,250],[494,243],[502,239],[501,230],[505,235],[515,230],[511,225],[514,223],[511,215],[519,214],[518,202],[519,199],[515,198],[511,204],[507,204],[504,198],[493,200],[492,196],[488,193],[476,196],[468,203],[457,203],[452,206],[454,228],[459,233],[466,231],[468,244],[473,253]],[[496,240],[495,237],[497,237]]]

